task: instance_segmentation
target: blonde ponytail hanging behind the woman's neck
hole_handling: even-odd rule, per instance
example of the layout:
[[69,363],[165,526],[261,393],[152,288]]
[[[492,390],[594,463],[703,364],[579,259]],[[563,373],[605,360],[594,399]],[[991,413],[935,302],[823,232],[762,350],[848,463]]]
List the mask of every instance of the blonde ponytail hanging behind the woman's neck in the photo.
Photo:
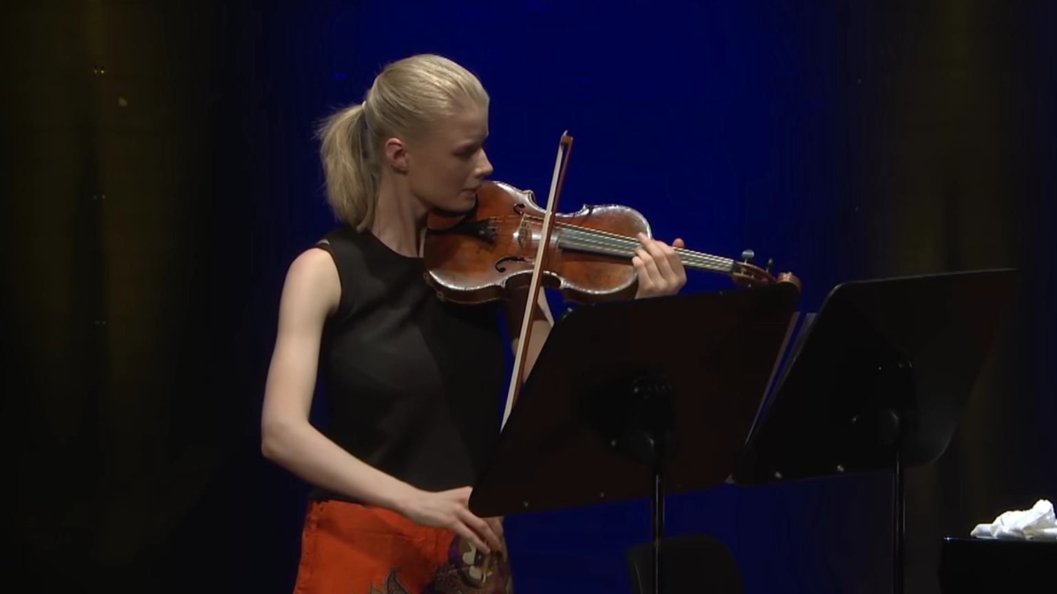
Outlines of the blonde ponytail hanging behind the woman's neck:
[[318,131],[327,201],[338,219],[359,230],[371,224],[378,197],[370,136],[364,104],[334,113]]

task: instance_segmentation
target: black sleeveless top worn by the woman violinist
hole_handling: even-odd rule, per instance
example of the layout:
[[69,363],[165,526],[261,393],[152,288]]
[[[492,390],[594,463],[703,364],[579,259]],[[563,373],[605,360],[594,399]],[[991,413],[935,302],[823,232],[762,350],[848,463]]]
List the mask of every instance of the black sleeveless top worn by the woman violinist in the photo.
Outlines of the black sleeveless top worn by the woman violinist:
[[[319,244],[341,300],[323,330],[323,433],[371,466],[425,490],[472,485],[499,435],[506,345],[498,302],[441,301],[425,263],[370,231],[341,226]],[[315,499],[348,497],[320,487]]]

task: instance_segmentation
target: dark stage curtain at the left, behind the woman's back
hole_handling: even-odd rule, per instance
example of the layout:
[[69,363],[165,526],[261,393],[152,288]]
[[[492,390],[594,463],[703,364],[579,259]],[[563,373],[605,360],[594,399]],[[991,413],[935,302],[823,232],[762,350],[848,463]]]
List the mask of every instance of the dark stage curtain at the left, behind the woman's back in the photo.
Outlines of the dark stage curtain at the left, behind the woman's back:
[[0,7],[11,591],[275,581],[263,25],[237,1]]

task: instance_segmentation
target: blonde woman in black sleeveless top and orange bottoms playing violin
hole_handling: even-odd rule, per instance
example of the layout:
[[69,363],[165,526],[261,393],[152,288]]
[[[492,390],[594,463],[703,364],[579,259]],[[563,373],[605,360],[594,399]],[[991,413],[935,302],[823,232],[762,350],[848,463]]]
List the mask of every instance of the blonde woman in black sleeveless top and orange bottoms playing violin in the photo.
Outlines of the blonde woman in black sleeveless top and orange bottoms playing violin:
[[[320,129],[340,224],[288,272],[261,423],[263,454],[313,485],[295,592],[512,589],[500,519],[467,501],[499,434],[500,323],[516,349],[525,298],[438,299],[422,253],[431,210],[474,206],[487,134],[480,81],[433,55],[388,64]],[[678,292],[672,248],[639,240],[635,296]],[[553,323],[540,295],[525,375]],[[317,369],[324,432],[309,423]]]

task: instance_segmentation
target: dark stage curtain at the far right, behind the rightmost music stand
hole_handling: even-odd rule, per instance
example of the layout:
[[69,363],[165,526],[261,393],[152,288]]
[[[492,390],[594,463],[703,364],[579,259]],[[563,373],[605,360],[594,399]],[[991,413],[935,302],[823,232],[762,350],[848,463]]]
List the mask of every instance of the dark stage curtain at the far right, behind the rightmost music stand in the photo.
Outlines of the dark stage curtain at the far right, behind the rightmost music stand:
[[1057,498],[1057,3],[856,2],[851,220],[861,277],[1014,266],[1022,279],[944,457],[907,482],[907,588],[944,537]]

